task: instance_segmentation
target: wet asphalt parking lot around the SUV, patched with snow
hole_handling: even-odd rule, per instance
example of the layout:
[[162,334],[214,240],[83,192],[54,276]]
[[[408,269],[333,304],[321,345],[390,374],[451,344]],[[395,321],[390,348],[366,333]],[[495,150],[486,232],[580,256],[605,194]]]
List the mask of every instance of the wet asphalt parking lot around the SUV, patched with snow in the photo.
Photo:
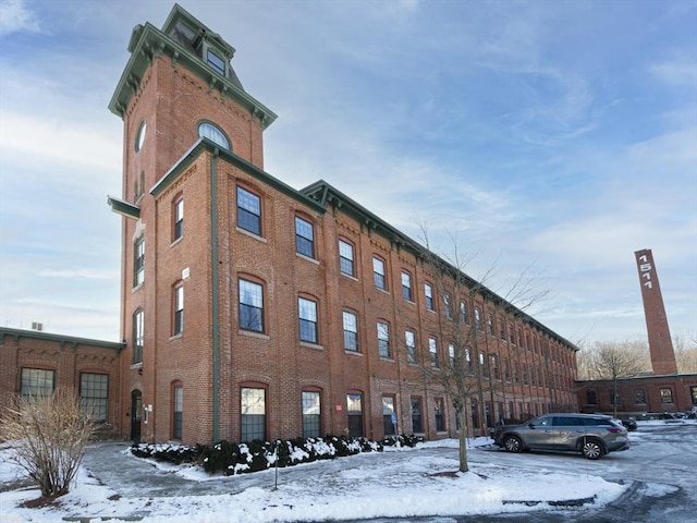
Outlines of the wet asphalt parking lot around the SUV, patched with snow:
[[[697,521],[697,425],[639,425],[629,433],[632,448],[614,452],[599,461],[579,454],[525,452],[511,454],[496,448],[469,452],[473,462],[505,466],[538,467],[545,471],[573,471],[594,474],[610,482],[625,482],[627,491],[614,502],[594,509],[540,511],[489,516],[429,518],[420,523],[626,523]],[[376,520],[372,523],[387,522]]]

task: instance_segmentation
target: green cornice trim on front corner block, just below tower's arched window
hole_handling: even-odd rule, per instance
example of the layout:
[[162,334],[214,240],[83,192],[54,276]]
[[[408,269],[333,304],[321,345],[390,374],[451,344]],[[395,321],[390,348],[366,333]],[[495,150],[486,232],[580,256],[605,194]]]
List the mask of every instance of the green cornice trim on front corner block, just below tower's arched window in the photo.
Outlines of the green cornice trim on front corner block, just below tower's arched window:
[[150,194],[155,197],[159,196],[170,184],[172,184],[201,154],[208,151],[210,154],[218,154],[219,158],[232,166],[243,170],[247,174],[256,178],[260,182],[270,185],[271,187],[280,191],[286,196],[310,207],[318,212],[326,212],[326,207],[319,202],[307,197],[297,190],[291,187],[286,183],[283,183],[278,178],[272,177],[268,172],[259,169],[258,167],[249,163],[247,160],[240,158],[234,153],[221,148],[215,142],[208,138],[200,137],[184,155],[172,166],[172,168],[150,188]]

